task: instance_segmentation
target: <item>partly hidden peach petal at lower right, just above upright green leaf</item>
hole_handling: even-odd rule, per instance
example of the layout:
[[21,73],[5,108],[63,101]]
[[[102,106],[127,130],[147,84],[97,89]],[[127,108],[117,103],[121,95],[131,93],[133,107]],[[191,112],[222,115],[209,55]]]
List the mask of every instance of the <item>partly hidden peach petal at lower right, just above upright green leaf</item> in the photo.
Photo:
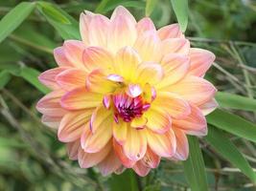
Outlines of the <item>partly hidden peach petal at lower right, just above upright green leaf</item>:
[[173,159],[185,160],[189,156],[188,138],[184,132],[178,128],[173,128],[176,137],[176,153]]

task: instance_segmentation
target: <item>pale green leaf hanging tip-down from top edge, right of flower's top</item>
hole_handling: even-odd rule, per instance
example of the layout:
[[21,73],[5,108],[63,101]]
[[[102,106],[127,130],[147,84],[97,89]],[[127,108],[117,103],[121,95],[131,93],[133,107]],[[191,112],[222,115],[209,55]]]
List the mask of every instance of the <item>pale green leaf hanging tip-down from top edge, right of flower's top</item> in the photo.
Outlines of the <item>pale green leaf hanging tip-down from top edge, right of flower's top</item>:
[[182,32],[185,32],[188,25],[189,7],[188,0],[171,0],[175,11],[177,22]]

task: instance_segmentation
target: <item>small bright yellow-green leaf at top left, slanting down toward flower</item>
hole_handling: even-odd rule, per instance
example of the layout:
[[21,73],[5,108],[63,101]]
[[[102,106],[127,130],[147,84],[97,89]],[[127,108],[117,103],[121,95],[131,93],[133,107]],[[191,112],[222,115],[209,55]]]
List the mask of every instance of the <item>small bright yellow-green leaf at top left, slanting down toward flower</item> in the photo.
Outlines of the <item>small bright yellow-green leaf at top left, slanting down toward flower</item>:
[[63,24],[71,24],[69,19],[53,4],[41,1],[38,2],[38,6],[40,6],[43,13],[52,20]]

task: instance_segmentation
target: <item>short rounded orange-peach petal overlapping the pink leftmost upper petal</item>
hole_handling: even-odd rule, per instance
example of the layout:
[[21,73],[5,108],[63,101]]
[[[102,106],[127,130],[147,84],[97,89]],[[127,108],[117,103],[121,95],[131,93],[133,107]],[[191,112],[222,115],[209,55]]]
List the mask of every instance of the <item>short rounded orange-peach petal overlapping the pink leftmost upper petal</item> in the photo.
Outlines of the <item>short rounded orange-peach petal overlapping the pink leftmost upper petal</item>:
[[87,73],[80,69],[68,69],[58,74],[56,81],[65,91],[71,91],[79,87],[85,87],[85,78]]

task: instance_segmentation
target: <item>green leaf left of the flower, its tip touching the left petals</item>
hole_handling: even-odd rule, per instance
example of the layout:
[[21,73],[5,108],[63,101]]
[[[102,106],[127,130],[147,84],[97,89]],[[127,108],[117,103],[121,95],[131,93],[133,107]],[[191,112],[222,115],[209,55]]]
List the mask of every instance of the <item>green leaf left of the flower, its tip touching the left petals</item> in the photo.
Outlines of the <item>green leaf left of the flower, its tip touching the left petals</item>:
[[47,94],[49,93],[49,89],[46,88],[44,85],[42,85],[39,80],[38,80],[38,75],[40,73],[38,71],[36,71],[33,68],[29,68],[29,67],[22,67],[20,69],[20,76],[23,77],[26,81],[28,81],[29,83],[31,83],[32,85],[35,86],[36,89],[38,89],[41,93],[43,94]]

